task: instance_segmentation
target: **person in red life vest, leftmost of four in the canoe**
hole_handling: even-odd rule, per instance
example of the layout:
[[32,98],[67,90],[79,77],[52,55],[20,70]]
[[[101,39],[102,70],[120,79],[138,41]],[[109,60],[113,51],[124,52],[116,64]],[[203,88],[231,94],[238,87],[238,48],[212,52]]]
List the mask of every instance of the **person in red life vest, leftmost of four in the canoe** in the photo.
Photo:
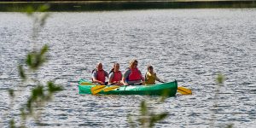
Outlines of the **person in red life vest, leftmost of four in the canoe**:
[[92,71],[92,82],[97,84],[108,84],[108,82],[105,82],[106,77],[108,78],[108,73],[103,70],[102,63],[98,63],[96,69]]

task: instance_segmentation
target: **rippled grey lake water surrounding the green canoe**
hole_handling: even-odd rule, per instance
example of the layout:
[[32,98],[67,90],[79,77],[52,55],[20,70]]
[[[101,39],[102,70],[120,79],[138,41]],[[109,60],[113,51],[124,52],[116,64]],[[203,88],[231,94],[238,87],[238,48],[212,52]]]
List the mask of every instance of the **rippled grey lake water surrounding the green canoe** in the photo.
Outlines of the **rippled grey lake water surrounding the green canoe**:
[[[50,60],[40,69],[43,82],[56,79],[65,90],[42,110],[45,127],[126,127],[127,115],[139,115],[146,100],[154,113],[169,112],[156,127],[256,127],[256,9],[148,9],[51,13],[38,38],[49,44]],[[0,125],[8,126],[8,89],[19,98],[11,112],[18,121],[20,90],[17,66],[32,49],[32,19],[20,13],[0,13]],[[159,103],[158,96],[79,95],[77,81],[90,79],[101,61],[109,71],[118,61],[121,71],[137,59],[160,79],[177,79],[193,91]],[[224,74],[217,108],[213,108],[217,74]],[[21,85],[22,86],[22,85]],[[24,86],[24,85],[23,85]],[[19,123],[18,123],[19,124]],[[27,126],[36,124],[28,121]]]

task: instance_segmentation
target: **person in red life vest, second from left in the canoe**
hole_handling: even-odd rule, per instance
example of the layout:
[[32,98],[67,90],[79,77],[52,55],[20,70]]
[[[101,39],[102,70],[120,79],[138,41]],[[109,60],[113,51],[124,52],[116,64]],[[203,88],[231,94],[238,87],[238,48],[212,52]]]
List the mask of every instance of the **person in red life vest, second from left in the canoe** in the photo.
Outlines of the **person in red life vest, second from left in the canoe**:
[[122,73],[119,71],[119,63],[114,63],[113,68],[109,73],[108,84],[123,85],[121,80],[122,80]]

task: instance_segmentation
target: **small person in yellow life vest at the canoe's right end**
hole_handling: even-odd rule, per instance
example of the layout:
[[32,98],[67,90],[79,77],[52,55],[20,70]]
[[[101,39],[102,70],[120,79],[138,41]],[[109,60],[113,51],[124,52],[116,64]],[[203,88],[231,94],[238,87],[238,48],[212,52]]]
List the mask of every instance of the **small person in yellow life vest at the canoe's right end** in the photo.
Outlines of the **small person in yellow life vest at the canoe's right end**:
[[155,80],[161,83],[165,83],[156,76],[153,67],[151,65],[148,65],[148,72],[145,75],[145,84],[155,84]]

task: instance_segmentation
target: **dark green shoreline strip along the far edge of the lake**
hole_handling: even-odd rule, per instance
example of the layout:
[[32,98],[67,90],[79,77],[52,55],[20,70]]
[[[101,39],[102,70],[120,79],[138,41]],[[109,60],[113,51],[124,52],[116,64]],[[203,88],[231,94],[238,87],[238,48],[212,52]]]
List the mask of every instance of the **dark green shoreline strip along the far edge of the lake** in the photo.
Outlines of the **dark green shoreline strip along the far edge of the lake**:
[[0,12],[24,12],[26,7],[48,3],[49,12],[105,11],[130,9],[241,9],[256,8],[255,0],[0,0]]

